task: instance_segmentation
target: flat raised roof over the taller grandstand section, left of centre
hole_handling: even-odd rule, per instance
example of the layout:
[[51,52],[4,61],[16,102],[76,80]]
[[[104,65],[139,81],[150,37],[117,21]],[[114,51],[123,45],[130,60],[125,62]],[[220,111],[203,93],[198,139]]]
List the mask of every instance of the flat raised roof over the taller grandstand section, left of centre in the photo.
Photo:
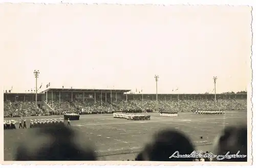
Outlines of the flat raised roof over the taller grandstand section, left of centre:
[[130,90],[127,89],[74,89],[74,88],[49,88],[47,90],[42,91],[41,93],[45,93],[47,91],[62,91],[62,92],[70,92],[70,91],[74,91],[74,92],[121,92],[121,93],[125,93],[125,92],[129,92]]

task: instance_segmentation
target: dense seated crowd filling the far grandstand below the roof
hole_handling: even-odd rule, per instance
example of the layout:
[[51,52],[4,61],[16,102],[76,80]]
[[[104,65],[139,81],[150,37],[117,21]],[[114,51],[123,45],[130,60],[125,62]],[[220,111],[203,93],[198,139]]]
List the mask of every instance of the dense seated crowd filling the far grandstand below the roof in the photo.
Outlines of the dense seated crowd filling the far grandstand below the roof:
[[33,116],[33,115],[51,115],[51,114],[65,114],[65,113],[81,113],[81,114],[97,114],[97,113],[113,113],[121,111],[147,111],[156,112],[161,109],[168,112],[183,112],[191,111],[194,109],[200,110],[246,110],[246,100],[129,100],[128,102],[123,100],[105,102],[105,101],[51,101],[48,103],[51,110],[46,108],[45,110],[37,107],[35,113],[34,102],[10,102],[4,103],[4,116]]

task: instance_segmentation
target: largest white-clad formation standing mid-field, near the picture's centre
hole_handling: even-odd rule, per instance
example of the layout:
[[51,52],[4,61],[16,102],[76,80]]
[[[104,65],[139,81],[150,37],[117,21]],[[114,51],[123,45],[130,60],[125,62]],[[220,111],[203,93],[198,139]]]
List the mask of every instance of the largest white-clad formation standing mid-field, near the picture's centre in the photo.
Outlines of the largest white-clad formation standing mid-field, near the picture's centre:
[[130,120],[150,120],[150,115],[138,113],[113,113],[114,118],[125,118]]

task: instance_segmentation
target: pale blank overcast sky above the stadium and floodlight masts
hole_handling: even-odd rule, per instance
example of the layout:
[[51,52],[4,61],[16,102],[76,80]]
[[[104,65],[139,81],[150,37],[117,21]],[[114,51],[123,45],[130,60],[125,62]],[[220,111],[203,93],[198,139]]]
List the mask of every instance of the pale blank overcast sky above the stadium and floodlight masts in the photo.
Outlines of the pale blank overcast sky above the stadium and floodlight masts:
[[[245,90],[251,8],[1,5],[4,90],[115,88],[154,93]],[[2,60],[1,59],[1,60]],[[172,91],[177,89],[177,91]]]

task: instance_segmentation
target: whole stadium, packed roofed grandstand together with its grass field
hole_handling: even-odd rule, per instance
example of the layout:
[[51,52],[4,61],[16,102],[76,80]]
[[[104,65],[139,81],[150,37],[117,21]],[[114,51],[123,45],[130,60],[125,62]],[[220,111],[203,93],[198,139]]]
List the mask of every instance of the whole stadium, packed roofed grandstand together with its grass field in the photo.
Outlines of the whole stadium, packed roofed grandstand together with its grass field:
[[[29,125],[29,121],[36,119],[79,114],[79,120],[71,121],[71,128],[81,140],[88,139],[94,144],[98,160],[134,160],[148,139],[164,128],[182,130],[197,150],[211,151],[215,136],[225,126],[246,123],[247,93],[134,94],[130,91],[48,88],[39,93],[6,92],[4,120],[17,122],[23,117]],[[198,111],[225,113],[200,115]],[[164,116],[162,112],[177,115]],[[113,117],[123,113],[137,115],[139,119]],[[140,114],[146,114],[150,119],[144,119]],[[31,130],[35,129],[4,131],[4,160],[15,160],[17,144],[33,138]]]

